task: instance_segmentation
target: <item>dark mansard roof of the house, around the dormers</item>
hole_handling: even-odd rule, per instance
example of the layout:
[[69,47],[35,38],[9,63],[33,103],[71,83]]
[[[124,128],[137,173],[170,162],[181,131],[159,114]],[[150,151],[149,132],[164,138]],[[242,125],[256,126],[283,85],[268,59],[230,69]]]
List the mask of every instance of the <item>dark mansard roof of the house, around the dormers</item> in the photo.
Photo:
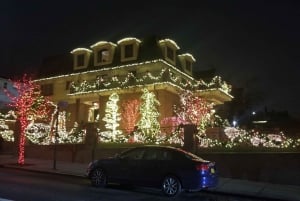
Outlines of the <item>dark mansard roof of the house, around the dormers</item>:
[[[89,71],[89,70],[96,70],[96,69],[100,69],[103,67],[109,68],[109,67],[115,67],[115,66],[120,66],[120,65],[126,65],[126,64],[130,64],[130,63],[140,63],[140,62],[151,61],[151,60],[156,60],[156,59],[164,59],[164,54],[161,49],[160,43],[169,42],[169,41],[174,43],[175,47],[176,47],[176,66],[175,67],[178,68],[179,70],[183,70],[183,67],[181,66],[181,62],[179,61],[178,56],[183,55],[183,54],[188,54],[188,53],[186,53],[184,51],[182,52],[182,50],[177,46],[177,44],[173,40],[161,38],[156,35],[150,35],[150,36],[144,37],[142,40],[137,39],[140,42],[137,59],[134,61],[121,61],[120,60],[121,47],[118,44],[118,42],[120,42],[120,41],[122,42],[122,40],[124,40],[124,39],[125,38],[120,39],[118,41],[111,41],[111,42],[108,41],[107,42],[109,44],[117,44],[115,46],[113,61],[110,64],[106,64],[101,67],[94,65],[94,62],[93,62],[94,55],[91,52],[93,50],[92,48],[94,47],[94,45],[96,45],[98,43],[98,42],[95,42],[94,44],[91,44],[90,47],[74,48],[74,50],[71,50],[70,52],[67,52],[65,54],[54,55],[54,56],[45,58],[41,64],[41,67],[39,69],[39,73],[38,73],[37,77],[38,78],[46,78],[46,77],[57,76],[57,75],[71,74],[71,73],[75,73],[75,72],[79,73],[79,72],[85,72],[85,71]],[[76,51],[84,51],[84,50],[91,53],[90,59],[88,62],[88,66],[87,66],[87,68],[78,69],[78,70],[74,71],[74,68],[73,68],[74,59],[73,59],[72,53],[74,53]]]

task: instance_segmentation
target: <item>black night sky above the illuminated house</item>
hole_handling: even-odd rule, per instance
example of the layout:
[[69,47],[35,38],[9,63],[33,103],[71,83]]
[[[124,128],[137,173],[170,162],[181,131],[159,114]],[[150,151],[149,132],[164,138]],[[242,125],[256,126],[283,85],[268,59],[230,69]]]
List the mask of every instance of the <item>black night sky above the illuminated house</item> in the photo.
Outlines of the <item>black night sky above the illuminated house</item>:
[[156,34],[260,97],[254,110],[300,117],[300,1],[1,2],[0,76],[34,72],[43,58],[101,41]]

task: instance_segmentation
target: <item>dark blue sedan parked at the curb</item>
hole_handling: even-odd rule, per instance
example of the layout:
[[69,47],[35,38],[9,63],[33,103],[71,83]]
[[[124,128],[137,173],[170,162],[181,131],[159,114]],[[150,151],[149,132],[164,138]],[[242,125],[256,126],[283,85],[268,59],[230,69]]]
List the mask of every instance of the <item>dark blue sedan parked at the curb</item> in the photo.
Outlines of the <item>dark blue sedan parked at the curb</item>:
[[167,196],[182,190],[216,187],[215,162],[171,146],[145,145],[88,165],[86,176],[96,187],[108,183],[161,188]]

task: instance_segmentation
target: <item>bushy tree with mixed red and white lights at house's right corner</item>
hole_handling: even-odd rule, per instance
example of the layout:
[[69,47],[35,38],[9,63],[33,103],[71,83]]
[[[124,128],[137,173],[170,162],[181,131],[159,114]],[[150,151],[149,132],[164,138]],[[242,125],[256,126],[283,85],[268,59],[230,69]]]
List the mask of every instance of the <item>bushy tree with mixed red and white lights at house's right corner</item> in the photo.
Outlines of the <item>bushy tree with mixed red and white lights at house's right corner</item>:
[[211,123],[214,115],[213,104],[195,96],[191,91],[185,91],[180,96],[180,106],[175,106],[174,111],[185,124],[197,125],[202,134],[204,134],[207,125]]

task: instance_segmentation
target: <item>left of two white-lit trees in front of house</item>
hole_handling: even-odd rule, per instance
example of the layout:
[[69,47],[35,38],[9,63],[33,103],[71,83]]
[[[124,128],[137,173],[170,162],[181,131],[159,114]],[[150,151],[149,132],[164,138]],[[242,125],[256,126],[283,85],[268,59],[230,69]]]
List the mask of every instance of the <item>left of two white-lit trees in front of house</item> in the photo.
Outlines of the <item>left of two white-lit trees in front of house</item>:
[[106,103],[106,114],[103,117],[103,121],[106,122],[105,127],[110,130],[105,132],[104,135],[112,142],[115,142],[116,139],[120,139],[120,135],[122,134],[122,131],[117,129],[120,125],[119,121],[121,120],[120,113],[118,112],[118,101],[119,95],[117,93],[112,93]]

